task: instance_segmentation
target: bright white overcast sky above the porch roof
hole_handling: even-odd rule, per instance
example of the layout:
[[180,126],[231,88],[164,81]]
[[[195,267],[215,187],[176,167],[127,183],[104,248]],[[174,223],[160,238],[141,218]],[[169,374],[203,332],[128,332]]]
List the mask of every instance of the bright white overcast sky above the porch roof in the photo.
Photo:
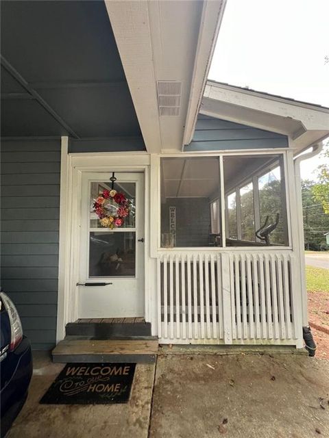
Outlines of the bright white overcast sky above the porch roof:
[[329,0],[228,0],[208,78],[329,107],[328,17]]

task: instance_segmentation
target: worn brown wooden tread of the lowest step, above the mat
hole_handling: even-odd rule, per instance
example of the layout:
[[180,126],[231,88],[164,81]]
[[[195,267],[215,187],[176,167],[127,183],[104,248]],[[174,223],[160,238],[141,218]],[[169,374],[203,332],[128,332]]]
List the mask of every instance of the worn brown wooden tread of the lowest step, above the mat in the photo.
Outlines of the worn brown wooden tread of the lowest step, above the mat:
[[53,349],[57,355],[157,355],[158,340],[64,339]]

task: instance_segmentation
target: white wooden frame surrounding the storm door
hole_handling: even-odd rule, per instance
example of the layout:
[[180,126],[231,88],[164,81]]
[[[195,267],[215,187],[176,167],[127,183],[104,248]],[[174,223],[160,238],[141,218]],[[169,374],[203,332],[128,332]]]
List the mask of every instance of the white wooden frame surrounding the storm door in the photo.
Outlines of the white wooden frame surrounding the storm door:
[[[133,163],[133,164],[132,164]],[[80,263],[80,211],[83,172],[143,172],[145,177],[145,320],[154,319],[150,306],[149,163],[147,153],[68,154],[68,138],[62,137],[60,178],[60,245],[58,261],[58,312],[56,342],[64,339],[65,326],[77,320]]]

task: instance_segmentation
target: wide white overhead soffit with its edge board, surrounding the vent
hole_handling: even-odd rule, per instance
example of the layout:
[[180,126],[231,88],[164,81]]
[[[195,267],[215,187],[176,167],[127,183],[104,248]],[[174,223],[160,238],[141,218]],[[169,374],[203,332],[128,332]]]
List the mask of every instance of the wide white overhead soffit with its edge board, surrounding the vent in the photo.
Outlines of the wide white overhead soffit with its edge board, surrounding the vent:
[[[226,0],[105,3],[147,152],[180,151],[193,136]],[[179,114],[160,115],[158,81],[181,84]]]

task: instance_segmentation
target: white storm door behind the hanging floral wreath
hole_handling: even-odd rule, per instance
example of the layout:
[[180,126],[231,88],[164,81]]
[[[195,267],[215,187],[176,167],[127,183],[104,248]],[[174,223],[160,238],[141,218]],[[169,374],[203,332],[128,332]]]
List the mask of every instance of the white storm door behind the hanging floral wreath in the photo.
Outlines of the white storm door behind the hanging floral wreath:
[[144,174],[115,172],[114,190],[125,194],[131,208],[123,225],[112,230],[93,212],[99,192],[111,189],[112,172],[82,175],[78,317],[144,316]]

